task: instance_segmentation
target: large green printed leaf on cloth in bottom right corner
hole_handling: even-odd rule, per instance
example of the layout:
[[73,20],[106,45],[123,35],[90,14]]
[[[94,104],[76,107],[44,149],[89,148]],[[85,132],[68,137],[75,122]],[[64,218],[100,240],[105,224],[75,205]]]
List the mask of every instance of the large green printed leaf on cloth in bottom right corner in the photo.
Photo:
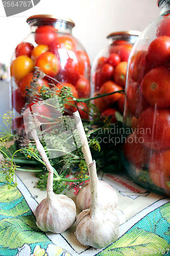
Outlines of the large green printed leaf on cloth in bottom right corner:
[[[168,243],[155,233],[133,228],[99,255],[162,255]],[[107,252],[106,252],[107,251]]]

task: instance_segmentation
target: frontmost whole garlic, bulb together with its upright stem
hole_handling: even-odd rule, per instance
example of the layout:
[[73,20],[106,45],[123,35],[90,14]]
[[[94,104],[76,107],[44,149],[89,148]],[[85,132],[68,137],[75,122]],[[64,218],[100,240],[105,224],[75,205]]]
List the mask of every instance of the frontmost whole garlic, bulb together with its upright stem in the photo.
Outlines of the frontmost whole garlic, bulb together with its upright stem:
[[119,220],[113,210],[100,209],[95,161],[89,166],[90,209],[83,210],[76,221],[76,237],[79,242],[94,248],[103,248],[114,242],[119,236]]

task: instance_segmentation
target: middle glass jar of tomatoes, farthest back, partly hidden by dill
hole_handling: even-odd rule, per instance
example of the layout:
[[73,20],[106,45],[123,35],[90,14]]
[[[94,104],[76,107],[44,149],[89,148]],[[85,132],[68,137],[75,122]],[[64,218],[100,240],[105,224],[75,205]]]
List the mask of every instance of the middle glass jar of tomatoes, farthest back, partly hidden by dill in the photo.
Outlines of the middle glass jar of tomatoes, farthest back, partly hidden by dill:
[[[107,36],[109,45],[95,57],[91,67],[91,97],[124,90],[128,58],[140,32],[120,31]],[[103,116],[112,116],[116,122],[115,113],[123,114],[125,95],[115,93],[94,100],[94,104]]]

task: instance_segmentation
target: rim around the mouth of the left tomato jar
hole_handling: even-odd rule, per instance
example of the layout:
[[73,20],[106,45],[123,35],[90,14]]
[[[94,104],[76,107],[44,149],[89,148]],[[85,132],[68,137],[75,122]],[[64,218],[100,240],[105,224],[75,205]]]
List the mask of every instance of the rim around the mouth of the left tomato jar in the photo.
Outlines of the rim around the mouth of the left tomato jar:
[[33,24],[34,26],[40,26],[42,23],[54,23],[54,22],[64,22],[66,24],[69,24],[72,28],[75,27],[75,23],[70,18],[62,18],[62,17],[55,17],[51,14],[39,14],[39,15],[32,15],[29,18],[27,18],[27,23],[29,25]]

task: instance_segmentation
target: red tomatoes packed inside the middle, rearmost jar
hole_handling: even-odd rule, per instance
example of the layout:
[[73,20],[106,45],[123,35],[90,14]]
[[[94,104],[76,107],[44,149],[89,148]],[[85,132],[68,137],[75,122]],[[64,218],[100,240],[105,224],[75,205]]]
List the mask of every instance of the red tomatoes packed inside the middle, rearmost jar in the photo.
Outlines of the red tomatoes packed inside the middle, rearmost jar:
[[[115,40],[109,46],[106,56],[101,56],[96,63],[92,80],[94,83],[94,96],[123,91],[126,82],[128,58],[132,45],[125,40]],[[115,93],[94,100],[94,104],[103,116],[112,116],[115,123],[116,112],[124,112],[125,94]]]

